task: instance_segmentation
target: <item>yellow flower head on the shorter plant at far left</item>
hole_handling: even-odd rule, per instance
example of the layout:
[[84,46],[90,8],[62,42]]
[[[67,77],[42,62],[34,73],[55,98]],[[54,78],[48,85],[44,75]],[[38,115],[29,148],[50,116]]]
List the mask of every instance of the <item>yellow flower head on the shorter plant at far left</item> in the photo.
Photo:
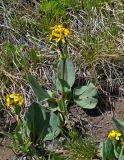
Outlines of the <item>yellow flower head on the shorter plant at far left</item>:
[[10,106],[22,106],[23,105],[23,98],[21,96],[21,94],[16,93],[16,94],[8,94],[6,96],[6,106],[10,107]]

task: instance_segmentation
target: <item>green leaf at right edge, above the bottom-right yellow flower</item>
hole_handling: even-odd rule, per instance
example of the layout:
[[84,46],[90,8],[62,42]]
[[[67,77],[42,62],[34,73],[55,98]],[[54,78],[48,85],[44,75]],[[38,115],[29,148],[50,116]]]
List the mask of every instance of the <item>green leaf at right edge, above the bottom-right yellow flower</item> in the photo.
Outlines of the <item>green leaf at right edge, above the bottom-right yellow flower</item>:
[[120,121],[114,117],[112,117],[112,121],[115,124],[117,130],[120,131],[121,133],[124,133],[124,122]]

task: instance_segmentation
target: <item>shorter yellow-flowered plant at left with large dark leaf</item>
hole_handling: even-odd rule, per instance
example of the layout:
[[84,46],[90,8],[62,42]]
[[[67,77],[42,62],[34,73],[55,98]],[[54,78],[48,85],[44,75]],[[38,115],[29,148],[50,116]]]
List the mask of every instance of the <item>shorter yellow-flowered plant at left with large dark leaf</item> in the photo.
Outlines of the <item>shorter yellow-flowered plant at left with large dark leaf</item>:
[[[17,116],[17,126],[11,132],[0,132],[11,140],[10,148],[16,155],[39,157],[43,151],[44,142],[54,139],[59,133],[59,118],[49,110],[46,110],[38,103],[32,103],[21,114],[21,107],[24,105],[20,93],[12,93],[6,96],[7,109],[14,109],[13,116]],[[40,152],[37,150],[40,148]]]

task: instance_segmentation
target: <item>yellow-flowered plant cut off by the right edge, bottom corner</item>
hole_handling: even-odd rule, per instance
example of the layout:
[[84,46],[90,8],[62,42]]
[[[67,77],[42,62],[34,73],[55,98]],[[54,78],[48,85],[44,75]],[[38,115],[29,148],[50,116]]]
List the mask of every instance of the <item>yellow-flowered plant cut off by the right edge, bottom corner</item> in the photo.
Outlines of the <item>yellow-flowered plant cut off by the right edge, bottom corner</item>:
[[103,160],[124,159],[124,122],[113,118],[116,130],[108,134],[107,140],[100,144]]

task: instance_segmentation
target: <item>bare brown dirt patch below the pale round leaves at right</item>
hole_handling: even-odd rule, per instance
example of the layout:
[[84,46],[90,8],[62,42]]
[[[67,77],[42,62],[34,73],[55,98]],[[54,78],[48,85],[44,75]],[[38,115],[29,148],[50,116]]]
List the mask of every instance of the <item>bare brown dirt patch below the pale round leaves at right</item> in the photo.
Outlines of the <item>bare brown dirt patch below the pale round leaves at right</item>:
[[71,118],[81,133],[92,135],[96,142],[105,139],[114,129],[112,117],[124,118],[124,101],[118,100],[113,107],[97,107],[93,110],[82,110],[79,107],[71,108]]

